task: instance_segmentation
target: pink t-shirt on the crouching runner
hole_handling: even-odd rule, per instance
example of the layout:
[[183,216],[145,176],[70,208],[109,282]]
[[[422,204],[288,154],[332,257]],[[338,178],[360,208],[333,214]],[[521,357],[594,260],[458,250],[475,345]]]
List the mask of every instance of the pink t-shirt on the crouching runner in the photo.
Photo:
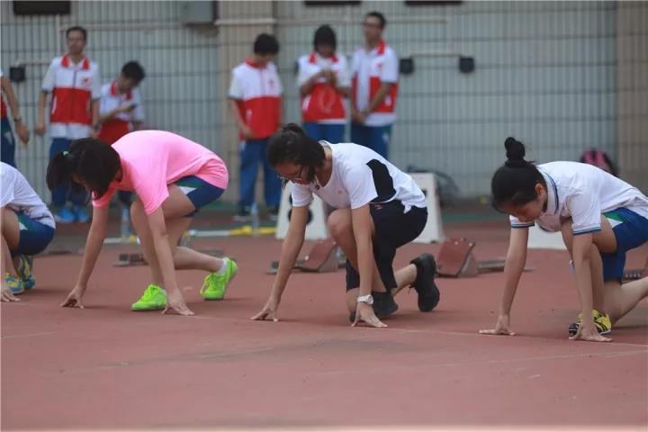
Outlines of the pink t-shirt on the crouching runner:
[[221,189],[228,184],[228,170],[209,148],[164,130],[138,130],[118,139],[112,148],[121,158],[121,181],[113,181],[94,207],[105,207],[115,191],[137,193],[144,211],[151,214],[168,197],[168,185],[195,175]]

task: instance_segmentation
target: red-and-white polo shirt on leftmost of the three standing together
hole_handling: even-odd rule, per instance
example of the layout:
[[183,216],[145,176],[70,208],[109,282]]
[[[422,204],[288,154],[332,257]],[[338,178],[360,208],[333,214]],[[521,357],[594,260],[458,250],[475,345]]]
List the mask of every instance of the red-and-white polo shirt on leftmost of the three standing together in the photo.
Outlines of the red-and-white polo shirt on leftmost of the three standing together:
[[243,120],[252,130],[254,139],[264,139],[279,127],[282,87],[274,63],[257,67],[247,59],[232,69],[229,98],[238,103]]

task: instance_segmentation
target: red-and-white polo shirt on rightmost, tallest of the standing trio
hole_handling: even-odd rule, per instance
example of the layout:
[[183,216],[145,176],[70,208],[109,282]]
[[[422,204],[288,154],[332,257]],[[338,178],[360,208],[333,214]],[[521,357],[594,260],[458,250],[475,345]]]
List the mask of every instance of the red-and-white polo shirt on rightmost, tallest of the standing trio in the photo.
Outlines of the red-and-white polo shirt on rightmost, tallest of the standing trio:
[[351,62],[353,72],[352,95],[356,109],[365,111],[382,83],[392,83],[383,103],[367,115],[365,125],[387,126],[396,120],[396,98],[398,96],[399,61],[396,52],[384,40],[374,49],[356,49]]

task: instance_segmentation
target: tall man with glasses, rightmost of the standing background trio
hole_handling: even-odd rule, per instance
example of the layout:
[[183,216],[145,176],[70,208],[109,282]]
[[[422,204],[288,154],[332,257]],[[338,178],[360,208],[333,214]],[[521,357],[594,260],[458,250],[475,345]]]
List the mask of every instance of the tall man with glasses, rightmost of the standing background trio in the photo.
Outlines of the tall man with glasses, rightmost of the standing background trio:
[[383,14],[365,15],[365,46],[356,49],[351,97],[351,141],[389,155],[392,124],[396,120],[399,59],[383,40]]

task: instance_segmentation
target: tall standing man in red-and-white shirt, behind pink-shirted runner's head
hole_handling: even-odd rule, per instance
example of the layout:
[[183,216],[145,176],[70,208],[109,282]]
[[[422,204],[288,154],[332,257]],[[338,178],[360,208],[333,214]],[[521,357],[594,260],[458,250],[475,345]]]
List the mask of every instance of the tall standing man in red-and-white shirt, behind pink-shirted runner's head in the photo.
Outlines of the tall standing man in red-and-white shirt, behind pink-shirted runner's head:
[[[47,95],[52,94],[49,110],[49,137],[52,139],[49,158],[69,149],[73,139],[95,135],[99,120],[101,80],[99,67],[85,57],[87,31],[70,27],[66,31],[67,53],[49,64],[43,78],[38,102],[35,132],[45,133]],[[71,191],[62,186],[52,191],[55,218],[61,223],[87,222],[85,192]]]

